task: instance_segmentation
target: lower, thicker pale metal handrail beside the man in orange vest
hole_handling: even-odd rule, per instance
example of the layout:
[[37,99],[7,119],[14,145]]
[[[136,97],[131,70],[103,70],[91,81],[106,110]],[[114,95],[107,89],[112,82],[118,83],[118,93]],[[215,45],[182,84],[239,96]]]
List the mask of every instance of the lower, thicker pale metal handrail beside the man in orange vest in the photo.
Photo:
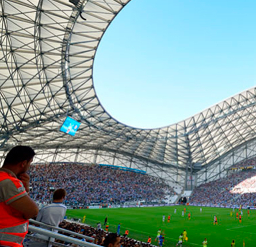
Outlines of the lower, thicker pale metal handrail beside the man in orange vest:
[[[43,228],[40,228],[40,227],[37,227],[37,226],[29,225],[28,230],[32,231],[34,233],[42,234],[43,236],[56,238],[58,240],[62,240],[62,241],[65,241],[65,242],[70,242],[72,244],[77,244],[77,245],[80,245],[80,246],[101,247],[100,245],[91,244],[90,242],[81,241],[81,240],[78,240],[77,238],[68,237],[68,236],[65,236],[65,235],[62,235],[62,234],[59,234],[59,233],[55,233],[54,231],[49,231],[49,230],[46,230],[46,229],[43,229]],[[72,233],[72,231],[71,231],[71,233]]]

